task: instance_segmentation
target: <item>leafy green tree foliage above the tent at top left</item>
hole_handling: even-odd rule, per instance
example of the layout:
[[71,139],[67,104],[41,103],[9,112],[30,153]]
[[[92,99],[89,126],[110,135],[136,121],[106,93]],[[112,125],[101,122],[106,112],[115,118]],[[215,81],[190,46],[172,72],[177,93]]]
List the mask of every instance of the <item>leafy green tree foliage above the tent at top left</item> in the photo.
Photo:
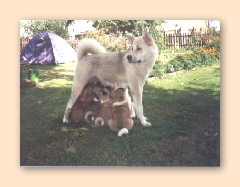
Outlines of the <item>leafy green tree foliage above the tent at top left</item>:
[[30,36],[41,32],[53,32],[62,38],[68,38],[67,26],[73,23],[73,20],[32,20],[24,23],[22,27]]

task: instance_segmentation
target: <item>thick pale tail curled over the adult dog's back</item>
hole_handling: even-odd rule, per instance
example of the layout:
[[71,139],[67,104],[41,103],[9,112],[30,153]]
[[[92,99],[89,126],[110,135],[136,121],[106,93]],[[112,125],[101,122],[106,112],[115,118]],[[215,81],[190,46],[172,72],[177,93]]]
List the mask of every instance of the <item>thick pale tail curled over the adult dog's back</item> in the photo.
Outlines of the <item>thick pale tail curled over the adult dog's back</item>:
[[98,54],[105,53],[105,48],[94,39],[86,38],[82,39],[78,44],[77,56],[78,60],[82,59],[88,53]]

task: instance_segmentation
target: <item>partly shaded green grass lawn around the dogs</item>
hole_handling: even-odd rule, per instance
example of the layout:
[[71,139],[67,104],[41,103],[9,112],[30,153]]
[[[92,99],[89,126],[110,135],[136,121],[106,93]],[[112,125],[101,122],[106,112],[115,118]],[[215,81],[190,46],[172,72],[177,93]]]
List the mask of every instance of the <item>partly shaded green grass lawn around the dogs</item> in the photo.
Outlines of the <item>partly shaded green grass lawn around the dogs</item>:
[[40,66],[40,81],[20,89],[21,166],[219,166],[220,63],[144,87],[143,127],[129,134],[64,124],[75,64]]

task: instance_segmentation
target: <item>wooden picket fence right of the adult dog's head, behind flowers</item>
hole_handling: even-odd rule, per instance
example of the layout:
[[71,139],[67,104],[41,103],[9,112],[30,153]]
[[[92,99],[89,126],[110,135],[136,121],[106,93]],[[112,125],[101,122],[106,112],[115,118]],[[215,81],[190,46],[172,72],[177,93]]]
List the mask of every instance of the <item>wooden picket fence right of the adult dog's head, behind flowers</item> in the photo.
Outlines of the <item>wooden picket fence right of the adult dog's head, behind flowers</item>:
[[209,34],[165,34],[164,44],[166,47],[204,47],[208,41]]

